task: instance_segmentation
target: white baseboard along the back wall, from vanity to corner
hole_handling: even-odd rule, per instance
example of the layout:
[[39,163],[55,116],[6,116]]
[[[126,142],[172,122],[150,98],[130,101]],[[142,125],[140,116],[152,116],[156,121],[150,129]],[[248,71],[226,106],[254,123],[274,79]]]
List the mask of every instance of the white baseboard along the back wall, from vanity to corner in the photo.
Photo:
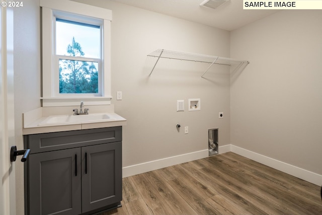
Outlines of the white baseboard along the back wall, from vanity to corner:
[[[219,147],[219,154],[230,152],[230,145]],[[123,178],[208,157],[208,150],[187,153],[123,167]]]

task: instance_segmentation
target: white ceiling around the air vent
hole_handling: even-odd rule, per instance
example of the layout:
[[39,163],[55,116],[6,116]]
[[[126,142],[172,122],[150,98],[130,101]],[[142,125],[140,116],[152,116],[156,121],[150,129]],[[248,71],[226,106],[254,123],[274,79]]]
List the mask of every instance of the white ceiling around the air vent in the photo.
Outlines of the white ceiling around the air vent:
[[277,10],[243,10],[243,0],[230,0],[216,9],[199,6],[204,0],[112,1],[228,31],[240,28],[277,12]]

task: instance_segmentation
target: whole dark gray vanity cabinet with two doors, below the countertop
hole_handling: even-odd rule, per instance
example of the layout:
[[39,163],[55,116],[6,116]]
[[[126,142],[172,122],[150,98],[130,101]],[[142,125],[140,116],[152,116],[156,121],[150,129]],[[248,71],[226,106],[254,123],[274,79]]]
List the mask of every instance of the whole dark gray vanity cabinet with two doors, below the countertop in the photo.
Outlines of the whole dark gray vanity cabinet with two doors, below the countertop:
[[24,136],[25,214],[92,214],[121,206],[122,127]]

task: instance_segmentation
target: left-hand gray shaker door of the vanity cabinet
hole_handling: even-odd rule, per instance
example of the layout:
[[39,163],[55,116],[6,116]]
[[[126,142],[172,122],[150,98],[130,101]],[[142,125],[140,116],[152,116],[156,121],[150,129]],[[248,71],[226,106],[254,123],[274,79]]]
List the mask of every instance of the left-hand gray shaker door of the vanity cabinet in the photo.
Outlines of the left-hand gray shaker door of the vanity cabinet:
[[81,148],[31,154],[29,214],[81,214]]

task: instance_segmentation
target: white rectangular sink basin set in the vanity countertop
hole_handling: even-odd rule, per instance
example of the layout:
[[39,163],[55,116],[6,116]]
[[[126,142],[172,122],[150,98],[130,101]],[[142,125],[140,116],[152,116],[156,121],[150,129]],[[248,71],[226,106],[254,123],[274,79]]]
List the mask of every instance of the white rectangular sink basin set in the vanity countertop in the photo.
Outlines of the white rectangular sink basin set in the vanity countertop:
[[75,124],[86,122],[101,122],[114,120],[107,113],[94,113],[88,115],[57,115],[48,116],[38,125],[50,125],[50,124]]

